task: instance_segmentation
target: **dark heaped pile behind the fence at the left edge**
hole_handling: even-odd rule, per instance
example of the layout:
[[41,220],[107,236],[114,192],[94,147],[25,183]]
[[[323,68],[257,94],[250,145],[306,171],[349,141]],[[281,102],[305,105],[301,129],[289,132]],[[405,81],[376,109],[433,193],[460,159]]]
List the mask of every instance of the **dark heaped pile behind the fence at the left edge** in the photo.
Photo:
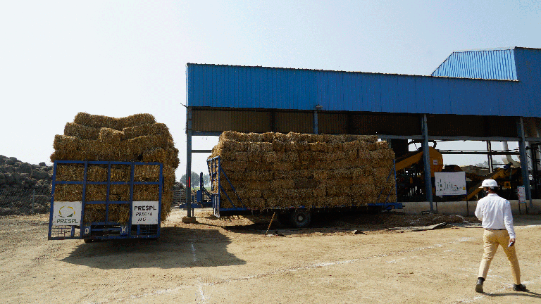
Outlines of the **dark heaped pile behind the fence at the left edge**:
[[49,211],[53,167],[0,156],[0,215]]

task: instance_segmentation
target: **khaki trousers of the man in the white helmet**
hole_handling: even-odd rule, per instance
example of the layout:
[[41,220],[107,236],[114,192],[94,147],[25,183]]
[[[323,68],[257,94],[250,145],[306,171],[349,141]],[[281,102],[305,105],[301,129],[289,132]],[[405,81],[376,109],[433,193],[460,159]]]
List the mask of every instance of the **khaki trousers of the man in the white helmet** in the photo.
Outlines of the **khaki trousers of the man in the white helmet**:
[[478,277],[487,277],[488,267],[490,262],[498,249],[498,245],[502,245],[504,253],[507,255],[509,265],[511,265],[511,274],[515,284],[521,284],[521,268],[518,267],[518,259],[516,258],[515,246],[507,247],[509,245],[509,233],[506,229],[503,230],[487,230],[483,234],[483,241],[485,243],[485,253],[479,265]]

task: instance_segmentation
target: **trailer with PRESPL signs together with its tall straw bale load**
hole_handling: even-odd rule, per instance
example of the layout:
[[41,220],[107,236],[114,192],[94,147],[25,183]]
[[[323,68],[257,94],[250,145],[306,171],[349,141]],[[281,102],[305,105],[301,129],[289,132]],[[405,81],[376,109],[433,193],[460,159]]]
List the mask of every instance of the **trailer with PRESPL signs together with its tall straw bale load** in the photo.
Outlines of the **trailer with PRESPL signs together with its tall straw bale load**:
[[78,113],[54,138],[51,161],[49,239],[159,236],[179,160],[168,127],[153,115]]

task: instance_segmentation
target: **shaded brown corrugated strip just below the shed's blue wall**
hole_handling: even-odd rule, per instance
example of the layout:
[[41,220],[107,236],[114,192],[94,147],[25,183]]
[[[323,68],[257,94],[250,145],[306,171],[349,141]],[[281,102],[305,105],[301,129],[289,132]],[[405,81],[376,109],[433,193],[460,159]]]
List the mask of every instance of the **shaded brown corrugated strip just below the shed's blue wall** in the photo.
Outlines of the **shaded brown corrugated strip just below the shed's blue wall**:
[[[318,114],[321,134],[419,135],[422,115],[391,113]],[[273,122],[274,118],[274,122]],[[517,118],[480,115],[428,115],[430,136],[516,137]],[[525,120],[530,122],[530,120]],[[541,124],[540,119],[534,120]],[[274,126],[274,129],[273,129]],[[313,133],[313,113],[277,110],[192,108],[192,130],[199,132]]]

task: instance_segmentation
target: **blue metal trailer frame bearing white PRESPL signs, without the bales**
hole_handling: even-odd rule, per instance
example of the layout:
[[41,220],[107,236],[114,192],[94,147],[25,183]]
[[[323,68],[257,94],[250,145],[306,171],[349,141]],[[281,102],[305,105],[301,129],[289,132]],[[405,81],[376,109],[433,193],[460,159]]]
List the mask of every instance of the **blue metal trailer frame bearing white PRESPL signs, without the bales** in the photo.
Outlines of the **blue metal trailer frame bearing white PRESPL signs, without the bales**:
[[[57,170],[59,165],[79,164],[84,166],[83,177],[77,181],[58,181]],[[107,167],[107,180],[94,182],[87,180],[89,165]],[[111,181],[111,166],[124,165],[130,167],[130,180],[125,182]],[[159,165],[159,176],[155,182],[136,182],[136,165]],[[79,184],[82,186],[81,201],[56,201],[55,188],[58,184]],[[87,201],[85,199],[87,185],[105,185],[105,201]],[[130,188],[129,201],[111,201],[111,185],[127,185]],[[158,186],[158,201],[133,201],[134,188],[139,185]],[[83,239],[85,242],[106,239],[157,239],[160,236],[161,226],[161,199],[163,190],[162,163],[118,162],[118,161],[80,161],[56,160],[53,168],[53,181],[51,189],[51,210],[49,213],[49,233],[47,239]],[[129,205],[130,216],[128,222],[115,222],[109,220],[109,209],[112,205]],[[85,221],[86,205],[104,205],[105,220],[101,222]]]

